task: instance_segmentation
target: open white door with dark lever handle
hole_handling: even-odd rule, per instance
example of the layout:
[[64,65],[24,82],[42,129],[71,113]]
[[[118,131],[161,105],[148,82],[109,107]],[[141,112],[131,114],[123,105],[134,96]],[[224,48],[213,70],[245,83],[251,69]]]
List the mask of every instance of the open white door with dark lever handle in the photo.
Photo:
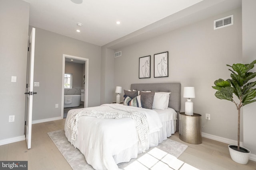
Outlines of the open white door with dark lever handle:
[[35,28],[32,28],[32,31],[29,36],[28,42],[28,63],[27,63],[27,86],[26,86],[26,117],[25,117],[25,130],[26,130],[26,141],[28,149],[31,148],[31,132],[32,132],[32,106],[33,106],[33,95],[36,94],[33,92],[34,84],[34,52],[35,52]]

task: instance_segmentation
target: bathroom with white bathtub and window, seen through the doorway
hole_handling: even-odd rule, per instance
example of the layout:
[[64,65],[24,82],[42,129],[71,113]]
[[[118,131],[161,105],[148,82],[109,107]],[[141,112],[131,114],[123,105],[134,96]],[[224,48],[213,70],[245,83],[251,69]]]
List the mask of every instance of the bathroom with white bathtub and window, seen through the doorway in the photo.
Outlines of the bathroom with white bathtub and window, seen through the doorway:
[[84,107],[85,62],[66,58],[64,75],[64,116],[70,109]]

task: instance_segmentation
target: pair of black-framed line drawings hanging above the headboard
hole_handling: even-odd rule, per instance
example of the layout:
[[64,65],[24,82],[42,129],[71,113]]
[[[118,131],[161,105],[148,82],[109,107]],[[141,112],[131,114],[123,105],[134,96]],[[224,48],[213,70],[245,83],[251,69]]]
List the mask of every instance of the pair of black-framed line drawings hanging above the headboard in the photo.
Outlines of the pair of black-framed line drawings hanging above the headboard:
[[[139,78],[150,78],[150,58],[139,58]],[[168,77],[168,51],[154,54],[154,77]]]

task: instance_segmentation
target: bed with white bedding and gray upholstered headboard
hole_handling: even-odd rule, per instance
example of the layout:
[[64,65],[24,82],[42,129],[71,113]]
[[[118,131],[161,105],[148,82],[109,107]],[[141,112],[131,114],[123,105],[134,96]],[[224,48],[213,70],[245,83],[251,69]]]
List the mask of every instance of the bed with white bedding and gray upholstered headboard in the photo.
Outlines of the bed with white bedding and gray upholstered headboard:
[[179,129],[180,87],[180,83],[131,84],[130,89],[140,91],[140,96],[170,92],[168,109],[121,104],[72,109],[66,118],[65,135],[94,169],[118,170],[118,163],[136,158]]

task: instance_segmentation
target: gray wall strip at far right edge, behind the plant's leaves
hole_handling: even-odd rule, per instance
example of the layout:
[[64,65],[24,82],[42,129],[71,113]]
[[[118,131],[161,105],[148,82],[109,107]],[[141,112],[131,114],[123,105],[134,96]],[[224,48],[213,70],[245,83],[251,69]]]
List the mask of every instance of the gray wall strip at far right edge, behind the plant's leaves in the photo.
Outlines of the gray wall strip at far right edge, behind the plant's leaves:
[[[256,1],[242,0],[242,27],[243,27],[243,63],[251,63],[256,59]],[[256,72],[256,65],[253,70]],[[256,81],[256,78],[254,78]],[[256,102],[243,108],[244,115],[244,147],[252,154],[256,154]],[[256,159],[256,158],[255,158]]]

